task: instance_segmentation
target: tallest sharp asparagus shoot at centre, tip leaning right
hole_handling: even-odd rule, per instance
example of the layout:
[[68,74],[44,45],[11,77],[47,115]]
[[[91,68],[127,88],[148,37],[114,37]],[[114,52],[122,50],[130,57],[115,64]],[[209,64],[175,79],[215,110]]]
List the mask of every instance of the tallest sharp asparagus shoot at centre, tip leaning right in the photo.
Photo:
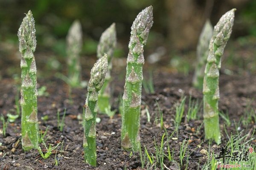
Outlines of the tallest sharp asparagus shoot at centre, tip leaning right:
[[153,24],[153,8],[141,11],[131,26],[129,54],[127,58],[126,79],[123,94],[123,114],[121,145],[125,150],[140,148],[140,104],[143,80],[143,47],[146,45],[149,30]]

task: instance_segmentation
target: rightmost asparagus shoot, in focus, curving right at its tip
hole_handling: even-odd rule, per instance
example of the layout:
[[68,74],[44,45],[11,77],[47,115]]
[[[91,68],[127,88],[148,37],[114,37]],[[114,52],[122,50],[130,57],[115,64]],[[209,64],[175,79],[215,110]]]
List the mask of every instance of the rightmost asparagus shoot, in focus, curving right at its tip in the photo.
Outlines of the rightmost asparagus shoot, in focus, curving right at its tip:
[[217,144],[221,143],[218,118],[219,70],[221,68],[221,56],[232,32],[235,11],[236,9],[232,9],[224,14],[214,27],[204,75],[205,138],[212,139]]

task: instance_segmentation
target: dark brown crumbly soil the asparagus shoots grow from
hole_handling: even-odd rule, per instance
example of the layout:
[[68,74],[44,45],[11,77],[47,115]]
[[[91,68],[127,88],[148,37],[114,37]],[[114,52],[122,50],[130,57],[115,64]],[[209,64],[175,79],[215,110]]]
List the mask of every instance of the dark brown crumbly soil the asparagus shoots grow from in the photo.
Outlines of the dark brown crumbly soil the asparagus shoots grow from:
[[[40,61],[39,61],[40,62]],[[83,67],[87,70],[83,71],[83,79],[89,79],[90,65],[94,60],[87,61]],[[115,68],[113,70],[113,108],[118,108],[118,96],[122,94],[124,85],[124,67]],[[148,68],[145,66],[145,72]],[[40,71],[39,71],[40,72]],[[52,74],[52,73],[50,73]],[[4,74],[3,74],[4,75]],[[43,73],[41,73],[43,75]],[[121,75],[121,76],[120,76]],[[123,76],[122,76],[123,75]],[[147,75],[145,74],[145,77]],[[170,139],[170,149],[174,150],[173,160],[169,162],[167,158],[164,159],[164,164],[171,170],[177,170],[180,166],[179,150],[183,139],[190,139],[187,154],[183,159],[184,169],[186,160],[188,160],[188,169],[201,169],[207,160],[207,155],[202,154],[202,149],[208,150],[208,141],[204,141],[204,127],[202,125],[202,111],[198,113],[200,119],[186,121],[186,113],[188,110],[189,95],[192,99],[202,100],[202,93],[195,88],[192,88],[192,75],[185,77],[183,75],[175,74],[169,68],[160,67],[154,70],[154,94],[146,94],[143,91],[142,97],[142,114],[141,114],[141,129],[140,138],[142,144],[142,152],[144,155],[144,146],[149,153],[155,153],[154,139],[157,146],[160,146],[161,137],[164,130],[160,128],[159,111],[156,105],[156,100],[163,111],[163,123],[169,135],[174,131],[175,107],[180,102],[182,96],[187,96],[185,113],[179,127],[177,140]],[[15,113],[15,95],[17,94],[17,82],[13,79],[3,76],[0,81],[0,113],[7,118],[7,113]],[[97,167],[91,167],[84,163],[83,159],[83,127],[78,115],[83,111],[83,105],[86,99],[86,89],[74,89],[72,91],[72,102],[69,100],[68,86],[60,79],[54,76],[47,76],[47,78],[38,78],[38,88],[42,85],[47,86],[49,96],[38,96],[38,119],[40,120],[39,128],[46,130],[46,143],[56,145],[64,141],[63,151],[59,154],[60,146],[58,147],[57,156],[59,157],[58,166],[55,166],[55,153],[48,159],[43,159],[38,150],[31,150],[23,152],[20,142],[15,146],[15,142],[20,140],[20,120],[17,119],[14,123],[9,123],[6,130],[6,137],[0,136],[0,169],[1,170],[142,170],[141,159],[139,153],[130,155],[130,152],[125,152],[120,147],[120,132],[121,132],[121,116],[117,112],[113,119],[108,116],[99,114],[101,122],[96,125],[97,129]],[[226,126],[227,133],[236,133],[234,122],[239,122],[241,116],[244,114],[247,103],[256,97],[256,76],[253,75],[226,75],[221,72],[220,76],[220,101],[219,110],[228,111],[231,121],[231,126]],[[148,107],[150,112],[150,122],[147,121],[145,107]],[[256,102],[252,102],[252,107],[256,108]],[[57,128],[57,110],[61,111],[63,115],[64,109],[67,109],[67,116],[65,117],[64,131],[60,132]],[[41,119],[42,116],[49,116],[47,121]],[[251,136],[253,129],[256,128],[255,120],[250,122],[247,127],[241,124],[242,135]],[[226,122],[220,118],[222,143],[227,144],[228,138],[224,132],[224,125]],[[2,128],[2,123],[0,123]],[[201,128],[200,128],[201,127]],[[241,131],[239,130],[239,131]],[[173,136],[173,137],[176,137]],[[166,141],[166,136],[165,136]],[[251,142],[252,145],[256,141]],[[165,144],[166,147],[166,144]],[[44,146],[41,144],[41,148]],[[211,150],[215,153],[218,151],[218,146],[213,142]],[[166,150],[165,150],[166,151]],[[167,151],[166,151],[167,152]],[[187,159],[187,156],[188,159]],[[146,162],[145,166],[149,167]],[[160,164],[157,165],[160,169]]]

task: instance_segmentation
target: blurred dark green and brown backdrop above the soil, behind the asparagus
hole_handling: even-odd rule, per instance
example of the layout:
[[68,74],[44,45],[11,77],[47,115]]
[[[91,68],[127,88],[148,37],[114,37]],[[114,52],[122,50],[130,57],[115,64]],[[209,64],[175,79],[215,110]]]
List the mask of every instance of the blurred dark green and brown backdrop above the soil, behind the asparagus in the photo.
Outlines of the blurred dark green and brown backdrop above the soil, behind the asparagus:
[[56,56],[65,57],[65,38],[76,19],[84,33],[82,55],[95,56],[99,37],[115,22],[115,57],[127,57],[131,25],[150,5],[154,24],[145,47],[145,58],[151,57],[148,61],[154,62],[153,57],[161,65],[188,74],[206,18],[215,25],[222,14],[237,8],[224,62],[231,71],[239,64],[239,68],[255,73],[256,0],[0,0],[0,67],[11,64],[13,58],[18,62],[17,30],[29,10],[36,23],[36,53],[49,54],[48,60],[58,65]]

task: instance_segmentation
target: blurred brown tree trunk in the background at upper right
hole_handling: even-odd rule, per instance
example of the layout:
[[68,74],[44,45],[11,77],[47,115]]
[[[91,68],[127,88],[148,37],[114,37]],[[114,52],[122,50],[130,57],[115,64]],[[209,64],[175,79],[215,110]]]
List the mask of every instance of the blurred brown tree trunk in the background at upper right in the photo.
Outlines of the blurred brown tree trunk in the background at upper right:
[[166,0],[169,15],[169,40],[178,50],[196,46],[201,27],[204,24],[204,5],[197,0]]

